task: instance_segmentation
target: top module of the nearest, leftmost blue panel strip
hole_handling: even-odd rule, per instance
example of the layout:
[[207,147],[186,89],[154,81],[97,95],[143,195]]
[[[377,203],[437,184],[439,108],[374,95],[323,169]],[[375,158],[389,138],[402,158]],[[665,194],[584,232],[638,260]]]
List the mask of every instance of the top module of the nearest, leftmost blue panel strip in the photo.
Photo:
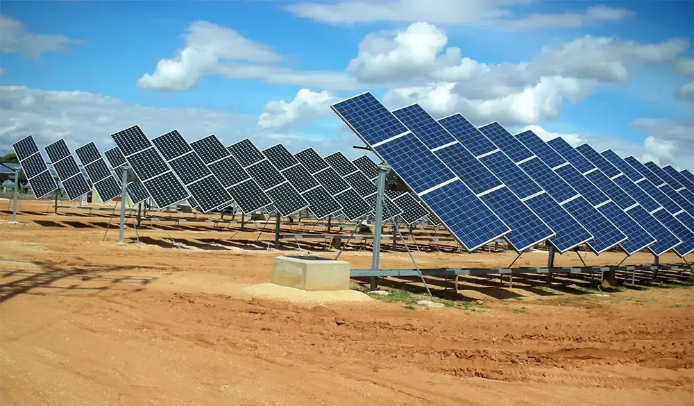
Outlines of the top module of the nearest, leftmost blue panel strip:
[[369,145],[407,131],[407,128],[369,92],[330,107]]

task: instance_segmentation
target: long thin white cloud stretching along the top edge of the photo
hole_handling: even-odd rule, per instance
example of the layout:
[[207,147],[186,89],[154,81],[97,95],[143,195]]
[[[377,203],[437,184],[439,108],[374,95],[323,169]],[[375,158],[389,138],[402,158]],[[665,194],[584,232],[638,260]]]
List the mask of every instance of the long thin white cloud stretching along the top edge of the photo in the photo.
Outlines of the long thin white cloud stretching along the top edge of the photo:
[[509,6],[528,0],[343,0],[334,3],[303,2],[287,6],[297,17],[327,24],[375,22],[430,22],[442,25],[484,26],[498,30],[577,28],[618,22],[633,13],[623,8],[593,6],[584,12],[532,14],[514,17]]

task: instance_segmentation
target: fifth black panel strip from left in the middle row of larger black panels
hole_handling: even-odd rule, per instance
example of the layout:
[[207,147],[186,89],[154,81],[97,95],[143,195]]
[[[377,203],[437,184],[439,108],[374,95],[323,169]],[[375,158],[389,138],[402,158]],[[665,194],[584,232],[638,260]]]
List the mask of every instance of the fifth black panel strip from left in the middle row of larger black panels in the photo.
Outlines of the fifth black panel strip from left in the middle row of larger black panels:
[[340,203],[332,197],[328,190],[299,162],[294,155],[282,144],[271,146],[262,151],[272,162],[282,176],[296,189],[308,203],[308,210],[316,219],[324,219],[342,210]]

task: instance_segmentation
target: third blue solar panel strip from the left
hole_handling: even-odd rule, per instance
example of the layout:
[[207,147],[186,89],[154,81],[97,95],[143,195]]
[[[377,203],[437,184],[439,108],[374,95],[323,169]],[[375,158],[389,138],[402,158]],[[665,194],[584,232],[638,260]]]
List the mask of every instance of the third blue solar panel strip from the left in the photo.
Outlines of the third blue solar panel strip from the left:
[[455,134],[457,140],[466,148],[470,144],[471,149],[468,151],[474,150],[475,153],[479,153],[477,159],[556,232],[556,235],[550,238],[550,244],[557,248],[559,253],[564,253],[593,238],[588,230],[564,208],[561,208],[559,203],[548,196],[532,178],[462,115],[441,119],[439,124],[449,133]]

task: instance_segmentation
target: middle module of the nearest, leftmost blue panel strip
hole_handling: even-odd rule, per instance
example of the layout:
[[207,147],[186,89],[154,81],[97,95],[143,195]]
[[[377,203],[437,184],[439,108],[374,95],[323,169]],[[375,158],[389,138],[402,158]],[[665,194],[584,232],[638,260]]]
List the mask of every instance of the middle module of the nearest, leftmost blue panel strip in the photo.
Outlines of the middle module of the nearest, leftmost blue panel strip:
[[412,133],[375,147],[376,153],[388,162],[420,194],[431,187],[455,178],[450,169]]

